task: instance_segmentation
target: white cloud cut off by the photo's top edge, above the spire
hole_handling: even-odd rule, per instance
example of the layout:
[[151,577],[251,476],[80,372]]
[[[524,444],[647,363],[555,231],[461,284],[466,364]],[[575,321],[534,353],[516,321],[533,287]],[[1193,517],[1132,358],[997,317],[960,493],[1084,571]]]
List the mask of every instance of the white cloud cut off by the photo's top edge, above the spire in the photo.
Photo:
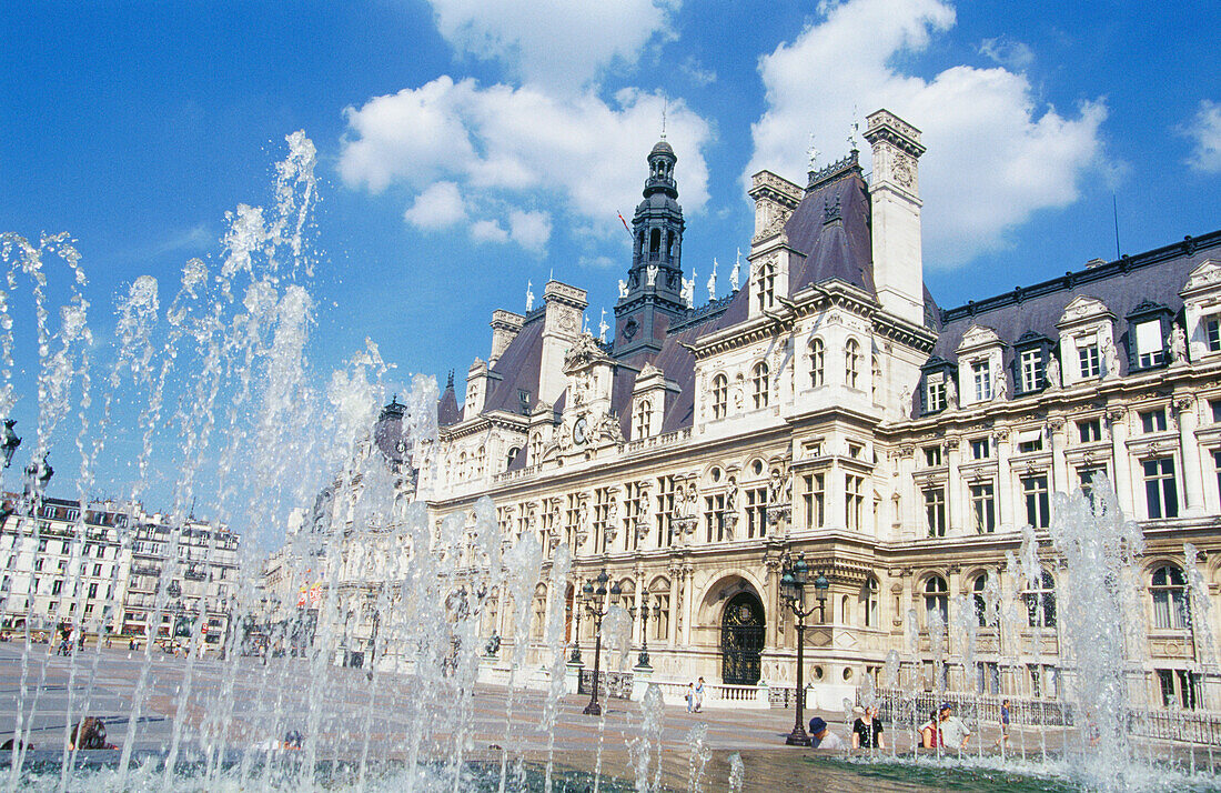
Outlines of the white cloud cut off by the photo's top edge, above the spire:
[[527,83],[580,88],[669,38],[678,0],[429,0],[455,49],[498,60]]

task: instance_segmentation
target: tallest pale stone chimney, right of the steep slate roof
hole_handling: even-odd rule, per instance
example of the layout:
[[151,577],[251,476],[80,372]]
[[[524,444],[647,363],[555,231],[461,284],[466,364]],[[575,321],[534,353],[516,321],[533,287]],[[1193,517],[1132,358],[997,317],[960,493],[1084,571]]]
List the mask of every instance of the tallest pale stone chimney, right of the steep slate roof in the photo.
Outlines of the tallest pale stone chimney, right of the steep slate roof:
[[872,114],[867,123],[864,139],[873,147],[869,185],[873,283],[883,309],[921,325],[924,321],[924,264],[916,163],[924,147],[919,142],[919,130],[889,110]]

